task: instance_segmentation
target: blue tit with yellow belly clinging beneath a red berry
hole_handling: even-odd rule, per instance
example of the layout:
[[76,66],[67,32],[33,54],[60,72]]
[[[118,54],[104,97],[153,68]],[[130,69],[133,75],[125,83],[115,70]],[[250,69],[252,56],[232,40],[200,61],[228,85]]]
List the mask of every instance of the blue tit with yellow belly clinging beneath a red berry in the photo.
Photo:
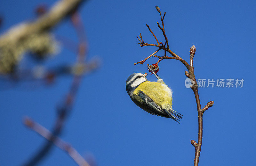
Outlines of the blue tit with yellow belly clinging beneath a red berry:
[[[147,80],[147,73],[133,73],[126,80],[126,91],[132,101],[144,111],[178,122],[183,115],[172,109],[172,90],[164,83],[155,70],[148,70],[157,78],[157,82]],[[179,122],[178,122],[179,123]]]

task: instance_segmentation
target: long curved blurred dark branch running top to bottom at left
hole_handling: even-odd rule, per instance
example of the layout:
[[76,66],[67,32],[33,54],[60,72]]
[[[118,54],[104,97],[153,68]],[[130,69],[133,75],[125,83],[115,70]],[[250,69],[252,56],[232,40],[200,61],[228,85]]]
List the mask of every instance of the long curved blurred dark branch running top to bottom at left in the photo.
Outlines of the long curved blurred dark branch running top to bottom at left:
[[[66,2],[66,3],[67,3],[67,1],[68,0],[64,0],[64,2]],[[69,3],[73,2],[76,5],[78,5],[80,1],[76,0],[76,1],[68,1],[68,2]],[[75,9],[75,7],[76,6],[74,6],[74,4],[73,4],[73,8],[68,8],[70,10],[69,10],[69,12],[66,12],[66,14],[70,13],[72,11],[71,9]],[[53,7],[53,8],[55,8],[55,7]],[[60,10],[60,11],[62,11],[62,10]],[[52,12],[50,11],[50,13],[54,14],[54,11],[52,11]],[[78,48],[78,53],[77,53],[76,64],[77,65],[83,65],[84,64],[84,60],[85,60],[86,50],[87,50],[86,49],[86,40],[85,40],[84,28],[82,28],[83,26],[82,26],[82,22],[81,22],[80,16],[76,13],[76,11],[73,11],[70,14],[71,14],[71,21],[72,21],[72,23],[73,23],[73,25],[74,25],[74,27],[76,29],[77,36],[79,37],[79,48]],[[44,16],[42,16],[42,17],[44,17]],[[79,20],[79,21],[77,21],[77,20]],[[77,28],[77,27],[79,27],[79,28]],[[61,133],[61,131],[63,129],[63,126],[64,126],[64,123],[65,123],[65,120],[66,120],[68,114],[71,111],[71,107],[72,107],[72,105],[74,103],[74,99],[76,97],[77,90],[78,90],[79,85],[81,83],[82,76],[83,76],[83,72],[75,72],[74,73],[73,82],[71,83],[69,92],[66,95],[65,100],[63,101],[63,105],[61,105],[57,109],[58,117],[57,117],[57,119],[55,121],[55,125],[54,125],[53,131],[52,131],[52,135],[49,137],[49,140],[51,140],[51,141],[46,142],[43,145],[43,147],[38,150],[36,155],[34,155],[24,165],[26,165],[26,166],[36,165],[51,150],[53,142],[55,142],[55,140],[57,139],[57,136]]]

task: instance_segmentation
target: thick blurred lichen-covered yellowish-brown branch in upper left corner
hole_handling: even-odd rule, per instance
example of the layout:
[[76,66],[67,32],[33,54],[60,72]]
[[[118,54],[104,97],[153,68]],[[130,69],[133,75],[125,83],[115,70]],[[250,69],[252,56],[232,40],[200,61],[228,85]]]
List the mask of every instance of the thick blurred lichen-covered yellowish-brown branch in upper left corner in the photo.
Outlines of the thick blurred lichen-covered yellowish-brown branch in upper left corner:
[[0,73],[12,73],[26,52],[36,53],[40,57],[53,53],[56,43],[49,30],[74,12],[83,1],[60,0],[35,21],[16,25],[1,35]]

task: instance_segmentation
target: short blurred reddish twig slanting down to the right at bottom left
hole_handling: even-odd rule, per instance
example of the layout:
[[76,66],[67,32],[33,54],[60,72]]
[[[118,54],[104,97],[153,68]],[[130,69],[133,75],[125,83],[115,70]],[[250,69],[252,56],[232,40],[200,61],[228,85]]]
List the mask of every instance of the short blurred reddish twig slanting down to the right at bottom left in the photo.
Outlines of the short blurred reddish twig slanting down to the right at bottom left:
[[76,151],[75,148],[73,148],[68,142],[65,142],[61,140],[59,137],[55,137],[54,140],[52,138],[54,137],[53,134],[47,130],[44,126],[41,126],[40,124],[36,123],[32,119],[25,117],[24,119],[24,125],[29,127],[30,129],[34,130],[36,133],[43,136],[46,140],[52,141],[57,147],[60,149],[66,151],[68,155],[79,165],[79,166],[90,166],[84,158]]

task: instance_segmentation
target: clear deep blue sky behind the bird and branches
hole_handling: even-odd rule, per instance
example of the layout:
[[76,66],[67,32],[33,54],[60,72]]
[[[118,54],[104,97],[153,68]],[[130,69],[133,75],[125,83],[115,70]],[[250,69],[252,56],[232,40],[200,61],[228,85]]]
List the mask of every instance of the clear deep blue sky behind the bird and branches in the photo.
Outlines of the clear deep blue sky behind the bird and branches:
[[[44,1],[52,5],[53,0]],[[22,20],[35,18],[39,1],[0,2],[4,16],[0,32]],[[100,166],[192,165],[197,140],[196,101],[185,87],[185,67],[175,60],[159,63],[159,76],[173,90],[173,109],[184,115],[180,124],[153,116],[132,103],[125,90],[127,77],[147,72],[142,60],[156,48],[137,44],[155,43],[147,23],[158,39],[164,38],[155,5],[166,11],[165,30],[175,53],[189,60],[189,48],[196,46],[195,74],[202,79],[244,79],[243,88],[199,88],[201,105],[214,100],[204,113],[202,166],[256,165],[255,112],[255,1],[89,1],[80,8],[89,42],[88,58],[97,55],[101,67],[84,77],[76,102],[61,138],[80,154],[92,154]],[[77,40],[68,21],[55,34]],[[159,52],[157,55],[163,55]],[[53,62],[51,62],[53,61]],[[75,54],[62,48],[47,65],[75,62]],[[111,71],[109,74],[108,70]],[[148,76],[150,81],[156,78]],[[67,93],[71,76],[61,76],[52,86],[21,83],[0,91],[0,165],[20,165],[41,147],[44,138],[22,125],[30,116],[48,129],[56,117],[56,103]],[[35,86],[35,88],[31,88]],[[54,147],[40,166],[76,163]]]

